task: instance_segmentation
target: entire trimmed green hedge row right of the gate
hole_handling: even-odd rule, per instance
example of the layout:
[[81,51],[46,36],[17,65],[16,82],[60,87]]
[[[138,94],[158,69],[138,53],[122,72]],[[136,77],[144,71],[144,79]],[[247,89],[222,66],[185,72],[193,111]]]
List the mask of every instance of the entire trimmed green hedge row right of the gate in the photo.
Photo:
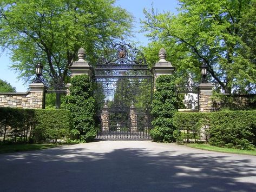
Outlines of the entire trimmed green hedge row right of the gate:
[[198,135],[205,129],[211,145],[237,149],[256,147],[256,111],[177,112],[174,125],[187,130],[187,140],[191,138],[189,131]]

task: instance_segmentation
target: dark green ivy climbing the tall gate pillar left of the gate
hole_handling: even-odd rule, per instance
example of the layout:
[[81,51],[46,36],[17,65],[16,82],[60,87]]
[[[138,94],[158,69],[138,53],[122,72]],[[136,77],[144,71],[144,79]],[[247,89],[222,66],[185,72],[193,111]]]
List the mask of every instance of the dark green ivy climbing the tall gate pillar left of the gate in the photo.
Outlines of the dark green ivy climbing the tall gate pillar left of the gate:
[[95,99],[93,84],[88,75],[77,75],[71,79],[70,95],[65,98],[65,109],[71,111],[74,129],[73,139],[88,142],[95,138]]

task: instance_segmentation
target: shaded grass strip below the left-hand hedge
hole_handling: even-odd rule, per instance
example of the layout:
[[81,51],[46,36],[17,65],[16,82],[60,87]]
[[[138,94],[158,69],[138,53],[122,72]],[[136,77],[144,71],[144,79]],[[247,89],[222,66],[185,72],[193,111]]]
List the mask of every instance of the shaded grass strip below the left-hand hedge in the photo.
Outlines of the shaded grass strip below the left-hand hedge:
[[33,144],[0,144],[0,154],[3,153],[14,153],[18,151],[32,151],[40,149],[48,149],[52,147],[60,146],[58,143],[33,143]]

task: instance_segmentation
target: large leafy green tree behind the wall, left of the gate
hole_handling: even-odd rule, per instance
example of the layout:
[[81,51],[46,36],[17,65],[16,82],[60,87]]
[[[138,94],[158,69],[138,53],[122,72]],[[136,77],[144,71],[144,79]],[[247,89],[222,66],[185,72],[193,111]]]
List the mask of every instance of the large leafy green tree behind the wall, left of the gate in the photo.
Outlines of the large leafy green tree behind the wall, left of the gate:
[[76,51],[97,59],[105,45],[128,35],[132,16],[112,0],[4,0],[0,3],[0,45],[11,52],[11,68],[25,81],[35,63],[44,65],[44,78],[62,89]]

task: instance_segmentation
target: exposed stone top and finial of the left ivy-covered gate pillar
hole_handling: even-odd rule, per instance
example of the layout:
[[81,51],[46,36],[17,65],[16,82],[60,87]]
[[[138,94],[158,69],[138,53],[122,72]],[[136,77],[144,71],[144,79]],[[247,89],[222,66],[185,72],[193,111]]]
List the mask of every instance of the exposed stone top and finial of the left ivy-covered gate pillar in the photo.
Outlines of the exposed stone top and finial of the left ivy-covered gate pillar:
[[[87,61],[84,60],[86,57],[86,53],[83,48],[80,48],[77,52],[78,60],[73,62],[72,65],[69,67],[69,70],[71,71],[71,78],[73,78],[76,75],[89,75],[90,77],[93,76],[94,70],[93,67],[91,67]],[[67,83],[65,85],[65,88],[67,89],[67,95],[70,94],[69,87],[70,83]]]

